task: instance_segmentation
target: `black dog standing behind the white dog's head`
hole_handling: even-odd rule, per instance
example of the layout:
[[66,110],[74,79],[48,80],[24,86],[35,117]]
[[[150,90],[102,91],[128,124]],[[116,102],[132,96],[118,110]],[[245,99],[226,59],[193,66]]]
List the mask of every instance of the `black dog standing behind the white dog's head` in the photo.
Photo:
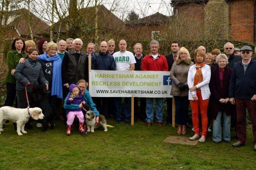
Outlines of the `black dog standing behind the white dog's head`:
[[40,107],[43,110],[43,129],[46,131],[48,129],[48,122],[50,123],[50,129],[54,129],[53,114],[51,106],[48,102],[48,91],[46,90],[46,85],[41,84],[36,87],[34,92],[32,92],[35,107]]

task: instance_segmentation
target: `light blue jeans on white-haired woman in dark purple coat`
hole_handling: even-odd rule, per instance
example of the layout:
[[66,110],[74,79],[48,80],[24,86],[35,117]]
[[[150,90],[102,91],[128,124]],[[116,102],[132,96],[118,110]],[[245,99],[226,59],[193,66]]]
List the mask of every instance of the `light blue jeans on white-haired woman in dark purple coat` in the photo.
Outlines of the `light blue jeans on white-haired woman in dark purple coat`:
[[226,112],[218,112],[216,120],[213,120],[212,140],[221,141],[221,115],[223,114],[223,140],[230,141],[230,120],[231,116],[226,115]]

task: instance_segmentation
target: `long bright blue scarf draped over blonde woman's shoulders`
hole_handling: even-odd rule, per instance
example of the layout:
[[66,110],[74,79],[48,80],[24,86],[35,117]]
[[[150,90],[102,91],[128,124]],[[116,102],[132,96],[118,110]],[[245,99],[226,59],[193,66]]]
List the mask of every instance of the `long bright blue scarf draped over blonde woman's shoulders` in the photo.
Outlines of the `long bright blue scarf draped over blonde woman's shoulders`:
[[52,93],[51,95],[56,95],[58,98],[62,99],[62,79],[61,79],[61,66],[62,60],[59,55],[54,55],[52,57],[47,56],[48,53],[44,53],[38,56],[38,60],[42,61],[53,61],[52,70]]

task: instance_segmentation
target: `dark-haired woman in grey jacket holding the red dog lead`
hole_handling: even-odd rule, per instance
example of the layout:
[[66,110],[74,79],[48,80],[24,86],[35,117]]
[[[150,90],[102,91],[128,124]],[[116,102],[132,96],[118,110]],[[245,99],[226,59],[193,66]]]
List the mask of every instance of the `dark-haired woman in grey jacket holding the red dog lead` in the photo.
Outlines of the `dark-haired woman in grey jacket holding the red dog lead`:
[[38,50],[31,48],[28,52],[28,58],[25,59],[25,62],[19,63],[15,69],[14,77],[17,80],[16,90],[18,108],[27,108],[28,103],[26,99],[25,86],[27,86],[27,95],[30,102],[33,101],[31,95],[33,86],[36,87],[37,85],[44,83],[48,89],[48,81],[44,78],[41,63],[38,62],[37,57]]

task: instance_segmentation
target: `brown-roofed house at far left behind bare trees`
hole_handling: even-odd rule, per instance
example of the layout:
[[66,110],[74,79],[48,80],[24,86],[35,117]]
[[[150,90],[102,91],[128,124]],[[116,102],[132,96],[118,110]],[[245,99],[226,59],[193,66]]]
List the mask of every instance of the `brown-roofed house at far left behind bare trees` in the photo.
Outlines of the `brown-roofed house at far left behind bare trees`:
[[30,25],[34,39],[40,38],[41,33],[49,33],[50,26],[47,23],[36,17],[27,9],[22,8],[10,11],[5,38],[10,40],[15,37],[22,37],[25,41],[30,40],[29,20],[31,21]]

